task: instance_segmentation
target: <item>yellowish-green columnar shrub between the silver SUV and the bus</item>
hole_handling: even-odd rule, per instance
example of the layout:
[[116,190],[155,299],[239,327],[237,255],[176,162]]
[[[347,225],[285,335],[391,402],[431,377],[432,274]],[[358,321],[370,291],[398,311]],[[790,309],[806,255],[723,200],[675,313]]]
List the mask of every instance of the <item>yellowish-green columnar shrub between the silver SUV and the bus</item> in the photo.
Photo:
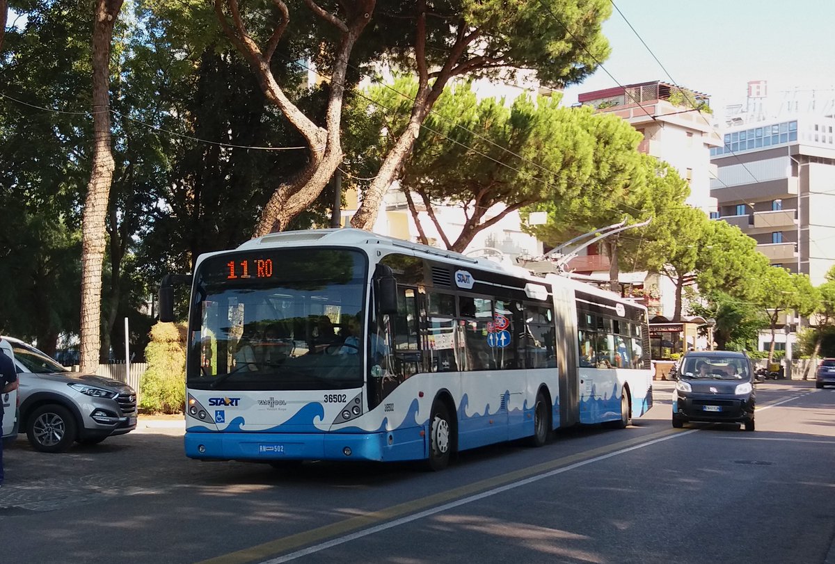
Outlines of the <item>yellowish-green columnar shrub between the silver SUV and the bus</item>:
[[185,406],[185,324],[157,323],[145,349],[148,369],[139,381],[139,408],[181,413]]

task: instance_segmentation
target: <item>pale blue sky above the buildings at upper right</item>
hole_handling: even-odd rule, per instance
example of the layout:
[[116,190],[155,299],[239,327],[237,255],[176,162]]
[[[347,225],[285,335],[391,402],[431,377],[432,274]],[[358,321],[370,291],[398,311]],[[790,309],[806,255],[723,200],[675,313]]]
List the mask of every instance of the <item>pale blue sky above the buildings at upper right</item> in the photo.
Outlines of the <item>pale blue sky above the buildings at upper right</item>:
[[[781,90],[835,88],[835,2],[832,0],[615,0],[680,86],[711,96],[721,114],[744,103],[749,80],[767,80],[769,98]],[[603,66],[621,84],[671,82],[640,39],[612,8],[603,33],[611,46]],[[577,94],[617,86],[602,69],[565,90]]]

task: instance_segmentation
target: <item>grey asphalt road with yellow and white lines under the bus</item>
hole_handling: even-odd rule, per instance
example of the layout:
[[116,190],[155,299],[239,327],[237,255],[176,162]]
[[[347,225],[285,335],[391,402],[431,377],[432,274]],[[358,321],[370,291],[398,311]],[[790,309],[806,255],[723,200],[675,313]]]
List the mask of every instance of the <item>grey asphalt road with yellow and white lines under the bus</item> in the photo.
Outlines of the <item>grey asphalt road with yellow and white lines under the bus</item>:
[[63,455],[6,451],[0,561],[828,562],[835,390],[758,387],[757,431],[670,425],[671,383],[622,431],[462,453],[440,473],[182,453],[145,428]]

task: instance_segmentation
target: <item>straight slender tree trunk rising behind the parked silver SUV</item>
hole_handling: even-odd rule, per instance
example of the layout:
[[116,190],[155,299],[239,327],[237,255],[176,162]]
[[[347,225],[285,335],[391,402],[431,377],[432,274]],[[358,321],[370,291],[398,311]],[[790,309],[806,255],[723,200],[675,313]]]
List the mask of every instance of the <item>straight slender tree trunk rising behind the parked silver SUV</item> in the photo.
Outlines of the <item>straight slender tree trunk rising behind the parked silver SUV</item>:
[[110,43],[123,0],[96,0],[93,28],[93,170],[82,217],[81,370],[99,368],[104,218],[115,168],[110,149]]

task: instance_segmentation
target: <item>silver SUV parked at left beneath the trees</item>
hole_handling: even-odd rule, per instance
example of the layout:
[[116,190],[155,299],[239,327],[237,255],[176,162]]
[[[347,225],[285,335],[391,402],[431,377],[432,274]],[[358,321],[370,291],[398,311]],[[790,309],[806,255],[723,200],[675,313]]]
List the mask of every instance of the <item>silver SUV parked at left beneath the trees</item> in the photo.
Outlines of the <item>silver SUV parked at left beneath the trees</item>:
[[70,372],[32,345],[3,339],[12,345],[20,381],[19,431],[38,451],[95,445],[136,428],[136,392],[129,385]]

